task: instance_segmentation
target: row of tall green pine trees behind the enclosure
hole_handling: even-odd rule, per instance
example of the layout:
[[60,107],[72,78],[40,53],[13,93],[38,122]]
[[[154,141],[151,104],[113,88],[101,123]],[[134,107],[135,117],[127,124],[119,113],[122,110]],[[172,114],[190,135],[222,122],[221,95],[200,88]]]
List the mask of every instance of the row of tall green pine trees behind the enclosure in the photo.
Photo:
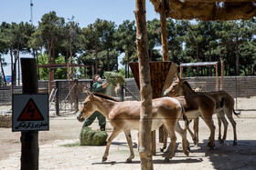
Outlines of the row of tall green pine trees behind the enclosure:
[[[168,57],[177,65],[187,62],[224,61],[225,75],[255,75],[256,18],[227,22],[179,21],[167,19]],[[161,23],[147,21],[149,58],[162,61]],[[0,25],[0,73],[4,76],[5,57],[11,57],[13,80],[19,77],[19,54],[31,54],[37,65],[81,64],[88,67],[54,69],[55,78],[91,78],[106,71],[130,77],[129,62],[138,61],[134,21],[121,25],[96,19],[91,25],[80,27],[72,16],[65,21],[52,11],[42,16],[38,25],[5,23]],[[122,61],[119,56],[123,55]],[[4,57],[5,56],[5,57]],[[93,69],[92,69],[93,68]],[[185,76],[214,75],[213,67],[185,68]],[[220,69],[219,69],[220,70]],[[38,69],[40,79],[48,79],[48,68]],[[93,72],[93,73],[92,73]]]

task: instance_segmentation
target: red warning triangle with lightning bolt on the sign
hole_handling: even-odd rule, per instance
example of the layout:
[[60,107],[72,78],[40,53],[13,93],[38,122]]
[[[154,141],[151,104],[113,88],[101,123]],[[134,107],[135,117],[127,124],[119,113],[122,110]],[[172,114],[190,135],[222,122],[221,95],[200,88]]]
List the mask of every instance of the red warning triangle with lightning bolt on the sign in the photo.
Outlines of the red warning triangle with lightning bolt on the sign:
[[39,112],[37,105],[35,104],[34,100],[30,98],[27,102],[27,105],[17,118],[17,121],[42,121],[45,118]]

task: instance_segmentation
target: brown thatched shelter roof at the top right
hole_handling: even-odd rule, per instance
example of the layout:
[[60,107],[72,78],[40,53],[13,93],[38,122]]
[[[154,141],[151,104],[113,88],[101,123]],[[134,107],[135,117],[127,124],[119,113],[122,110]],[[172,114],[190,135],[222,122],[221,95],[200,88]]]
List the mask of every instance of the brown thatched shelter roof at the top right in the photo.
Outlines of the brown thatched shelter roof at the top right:
[[155,11],[174,19],[227,21],[256,15],[255,0],[150,0]]

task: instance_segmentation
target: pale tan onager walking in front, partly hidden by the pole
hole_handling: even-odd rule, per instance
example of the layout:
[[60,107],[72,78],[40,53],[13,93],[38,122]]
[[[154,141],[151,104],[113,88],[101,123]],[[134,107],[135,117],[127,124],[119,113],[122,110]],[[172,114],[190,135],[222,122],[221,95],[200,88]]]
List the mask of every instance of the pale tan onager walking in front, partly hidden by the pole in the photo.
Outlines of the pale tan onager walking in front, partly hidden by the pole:
[[[126,136],[131,153],[126,162],[132,162],[134,153],[131,130],[139,130],[141,102],[119,102],[108,95],[91,93],[89,91],[87,91],[87,93],[88,96],[83,106],[80,108],[80,112],[77,114],[77,119],[83,121],[94,111],[98,110],[109,119],[113,128],[112,135],[109,137],[106,145],[105,154],[102,156],[102,162],[107,160],[112,140],[122,131]],[[187,132],[177,124],[181,115],[182,107],[174,98],[162,97],[152,101],[152,131],[159,128],[161,125],[165,125],[172,142],[170,152],[165,157],[165,160],[169,160],[169,158],[174,156],[176,145],[175,130],[182,136],[183,153],[188,155]]]

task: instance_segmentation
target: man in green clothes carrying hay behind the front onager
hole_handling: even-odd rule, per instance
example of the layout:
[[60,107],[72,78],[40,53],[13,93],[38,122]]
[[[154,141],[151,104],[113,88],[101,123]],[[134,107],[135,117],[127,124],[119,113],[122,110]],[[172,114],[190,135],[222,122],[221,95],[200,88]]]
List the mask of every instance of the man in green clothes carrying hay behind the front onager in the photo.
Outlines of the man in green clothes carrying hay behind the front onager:
[[[92,85],[92,92],[97,92],[101,94],[105,94],[106,86],[108,85],[107,82],[103,82],[101,76],[96,74],[92,77],[93,85]],[[101,131],[106,130],[106,117],[101,114],[99,111],[95,111],[92,115],[90,115],[83,123],[83,127],[87,127],[93,123],[93,121],[98,118],[99,125],[101,127]]]

